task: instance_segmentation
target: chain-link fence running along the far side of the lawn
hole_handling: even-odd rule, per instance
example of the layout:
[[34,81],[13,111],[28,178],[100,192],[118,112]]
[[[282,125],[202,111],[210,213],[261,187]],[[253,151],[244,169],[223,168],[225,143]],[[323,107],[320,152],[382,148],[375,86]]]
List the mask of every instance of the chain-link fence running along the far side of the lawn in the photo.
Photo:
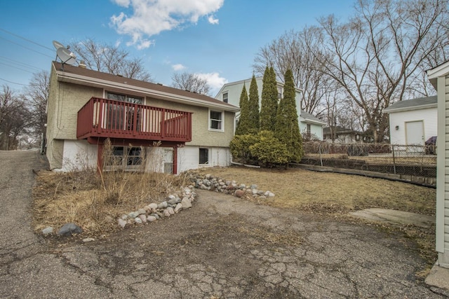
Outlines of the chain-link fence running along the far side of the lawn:
[[436,177],[436,146],[304,142],[302,164]]

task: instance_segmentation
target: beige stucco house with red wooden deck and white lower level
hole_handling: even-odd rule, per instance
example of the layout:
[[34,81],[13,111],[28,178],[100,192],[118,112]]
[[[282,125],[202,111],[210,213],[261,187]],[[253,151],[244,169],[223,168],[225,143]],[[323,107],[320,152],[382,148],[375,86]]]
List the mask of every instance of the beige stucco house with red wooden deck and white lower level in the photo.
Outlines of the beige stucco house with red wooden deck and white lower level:
[[103,165],[110,139],[106,158],[119,161],[116,167],[174,174],[230,165],[239,111],[206,95],[58,62],[51,67],[47,108],[51,169],[110,167]]

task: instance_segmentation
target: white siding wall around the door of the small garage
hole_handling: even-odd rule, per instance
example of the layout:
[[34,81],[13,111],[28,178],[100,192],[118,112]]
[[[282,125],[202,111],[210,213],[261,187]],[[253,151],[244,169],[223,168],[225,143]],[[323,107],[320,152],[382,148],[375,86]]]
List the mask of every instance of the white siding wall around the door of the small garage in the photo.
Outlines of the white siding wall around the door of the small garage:
[[[406,122],[422,120],[424,141],[437,134],[437,109],[416,109],[390,113],[390,143],[406,144]],[[396,126],[398,130],[396,130]]]

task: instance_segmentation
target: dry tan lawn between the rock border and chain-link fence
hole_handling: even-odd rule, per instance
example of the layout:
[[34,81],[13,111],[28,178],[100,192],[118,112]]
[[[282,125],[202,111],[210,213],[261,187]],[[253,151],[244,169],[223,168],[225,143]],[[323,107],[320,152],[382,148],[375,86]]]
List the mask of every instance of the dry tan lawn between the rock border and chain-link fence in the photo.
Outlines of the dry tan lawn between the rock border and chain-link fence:
[[275,207],[318,213],[373,207],[435,213],[436,190],[409,183],[292,168],[214,167],[200,172],[270,190],[276,196],[268,204]]

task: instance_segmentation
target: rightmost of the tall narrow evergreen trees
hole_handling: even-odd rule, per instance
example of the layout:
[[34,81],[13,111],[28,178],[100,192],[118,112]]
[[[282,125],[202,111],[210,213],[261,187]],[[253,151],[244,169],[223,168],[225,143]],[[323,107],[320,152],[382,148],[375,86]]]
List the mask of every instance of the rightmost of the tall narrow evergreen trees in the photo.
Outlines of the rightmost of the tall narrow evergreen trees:
[[276,137],[283,144],[286,144],[288,153],[290,153],[289,161],[300,162],[304,151],[302,150],[302,137],[297,120],[295,84],[290,69],[286,71],[284,82],[283,98],[279,102],[274,132]]

